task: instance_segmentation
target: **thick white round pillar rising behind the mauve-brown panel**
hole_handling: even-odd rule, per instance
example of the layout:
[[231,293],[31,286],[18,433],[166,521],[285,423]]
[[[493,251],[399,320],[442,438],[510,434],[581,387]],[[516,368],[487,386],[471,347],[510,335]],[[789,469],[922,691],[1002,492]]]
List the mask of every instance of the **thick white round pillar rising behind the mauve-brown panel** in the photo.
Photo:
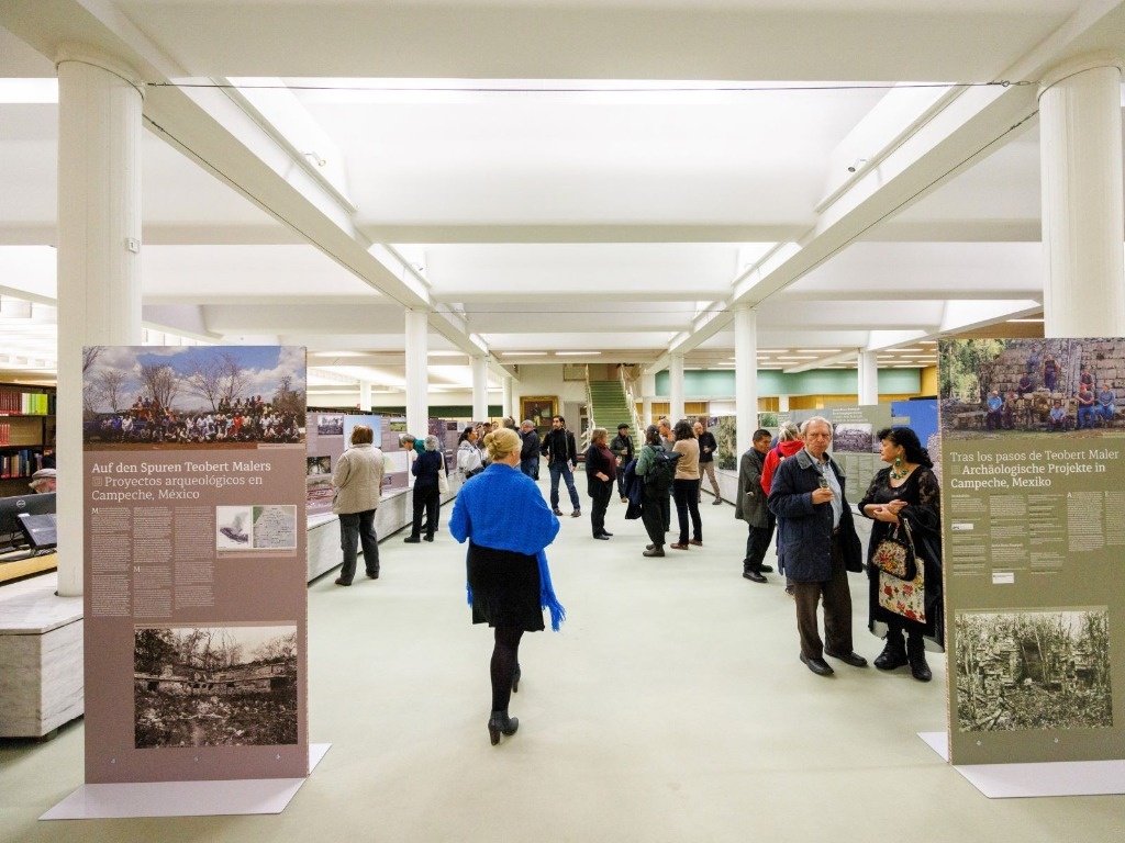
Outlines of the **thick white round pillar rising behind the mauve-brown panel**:
[[141,345],[137,74],[82,47],[58,72],[58,593],[82,593],[83,346]]

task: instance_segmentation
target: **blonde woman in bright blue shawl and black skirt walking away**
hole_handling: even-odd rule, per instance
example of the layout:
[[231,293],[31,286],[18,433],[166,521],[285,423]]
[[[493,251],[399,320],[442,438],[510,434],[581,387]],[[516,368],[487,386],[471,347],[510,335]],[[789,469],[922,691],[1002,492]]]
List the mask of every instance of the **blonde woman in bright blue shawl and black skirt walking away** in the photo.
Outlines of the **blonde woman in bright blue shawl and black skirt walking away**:
[[566,615],[555,598],[543,551],[559,522],[536,481],[520,471],[520,436],[504,427],[485,436],[485,447],[488,468],[461,487],[449,529],[458,542],[471,540],[466,565],[472,623],[495,629],[488,717],[495,746],[501,734],[514,735],[520,726],[507,714],[520,685],[520,638],[543,628],[543,609],[550,610],[555,631]]

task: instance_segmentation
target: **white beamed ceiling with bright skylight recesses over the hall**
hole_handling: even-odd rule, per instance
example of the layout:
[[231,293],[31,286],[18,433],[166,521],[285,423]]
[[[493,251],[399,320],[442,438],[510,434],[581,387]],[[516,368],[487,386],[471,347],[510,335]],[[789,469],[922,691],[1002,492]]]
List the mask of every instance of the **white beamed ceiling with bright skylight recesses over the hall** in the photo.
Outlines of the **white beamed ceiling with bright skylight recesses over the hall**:
[[[6,0],[0,26],[0,80],[81,43],[150,83],[147,326],[390,384],[404,305],[494,371],[729,364],[736,305],[802,368],[1034,315],[1036,89],[974,83],[1125,53],[1108,0]],[[56,143],[56,106],[0,103],[0,345],[47,372]]]

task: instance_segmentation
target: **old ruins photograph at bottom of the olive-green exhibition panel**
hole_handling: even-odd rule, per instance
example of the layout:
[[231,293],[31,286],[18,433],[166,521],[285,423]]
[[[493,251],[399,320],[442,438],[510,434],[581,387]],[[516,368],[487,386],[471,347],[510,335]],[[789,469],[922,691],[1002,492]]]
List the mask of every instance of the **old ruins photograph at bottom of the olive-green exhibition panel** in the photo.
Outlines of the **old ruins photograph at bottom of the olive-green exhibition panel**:
[[1107,607],[956,615],[961,732],[1110,728]]

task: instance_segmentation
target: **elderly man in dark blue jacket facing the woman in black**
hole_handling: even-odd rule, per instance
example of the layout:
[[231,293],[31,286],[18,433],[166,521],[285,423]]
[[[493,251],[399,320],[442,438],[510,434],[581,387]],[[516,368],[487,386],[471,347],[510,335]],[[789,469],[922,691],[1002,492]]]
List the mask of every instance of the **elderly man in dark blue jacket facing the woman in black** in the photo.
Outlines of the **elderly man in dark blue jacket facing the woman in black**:
[[[848,571],[863,570],[863,549],[844,498],[844,472],[828,456],[832,426],[813,416],[801,426],[804,447],[777,466],[767,504],[777,516],[777,554],[793,579],[801,661],[817,676],[832,669],[825,655],[865,668],[852,649],[852,590]],[[825,604],[825,638],[817,604]]]

